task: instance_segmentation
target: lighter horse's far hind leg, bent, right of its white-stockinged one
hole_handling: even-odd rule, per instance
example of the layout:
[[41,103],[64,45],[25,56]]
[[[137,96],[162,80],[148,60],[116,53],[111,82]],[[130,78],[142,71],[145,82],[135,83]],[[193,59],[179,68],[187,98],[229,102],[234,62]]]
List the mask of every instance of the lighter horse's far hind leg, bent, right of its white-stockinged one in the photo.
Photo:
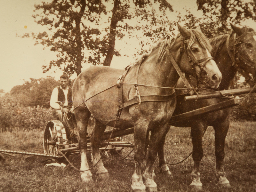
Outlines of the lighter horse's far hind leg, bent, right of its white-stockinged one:
[[93,165],[95,165],[94,170],[96,171],[99,180],[105,180],[109,177],[108,170],[105,169],[100,156],[101,136],[105,129],[106,125],[95,119],[94,129],[91,134],[92,162]]

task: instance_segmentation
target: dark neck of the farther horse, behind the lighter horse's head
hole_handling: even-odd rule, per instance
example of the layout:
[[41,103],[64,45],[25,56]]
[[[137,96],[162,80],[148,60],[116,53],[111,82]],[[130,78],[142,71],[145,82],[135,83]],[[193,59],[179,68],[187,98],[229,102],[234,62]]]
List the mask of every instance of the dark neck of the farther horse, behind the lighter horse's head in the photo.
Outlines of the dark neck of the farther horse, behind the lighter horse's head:
[[228,89],[232,80],[235,78],[237,69],[233,66],[233,58],[230,58],[226,44],[223,44],[215,55],[215,61],[222,74],[219,90]]

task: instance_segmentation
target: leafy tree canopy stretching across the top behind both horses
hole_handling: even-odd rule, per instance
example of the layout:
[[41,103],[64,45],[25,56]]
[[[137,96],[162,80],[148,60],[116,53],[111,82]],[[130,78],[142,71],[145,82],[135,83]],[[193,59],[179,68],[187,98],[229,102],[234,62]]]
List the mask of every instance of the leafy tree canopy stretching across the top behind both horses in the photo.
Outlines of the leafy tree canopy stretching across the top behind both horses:
[[[83,65],[110,66],[113,56],[120,56],[116,41],[124,36],[137,37],[141,32],[148,40],[140,40],[136,48],[141,54],[145,47],[159,38],[173,35],[176,22],[188,28],[200,26],[209,38],[225,34],[229,23],[239,24],[255,20],[255,0],[197,0],[196,17],[172,8],[167,0],[53,0],[35,5],[35,21],[47,27],[39,34],[31,34],[36,44],[43,44],[56,52],[57,59],[43,66],[47,72],[53,66],[68,74],[80,74]],[[176,15],[170,17],[170,12]],[[130,21],[133,21],[131,24]],[[25,34],[24,36],[30,36]],[[148,50],[148,49],[147,49]]]

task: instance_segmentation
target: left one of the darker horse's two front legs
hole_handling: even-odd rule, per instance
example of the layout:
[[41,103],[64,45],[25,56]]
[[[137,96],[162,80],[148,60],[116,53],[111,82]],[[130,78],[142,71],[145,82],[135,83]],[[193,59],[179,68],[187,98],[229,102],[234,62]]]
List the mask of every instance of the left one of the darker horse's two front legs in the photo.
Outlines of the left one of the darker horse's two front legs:
[[190,186],[199,190],[203,189],[202,187],[203,184],[200,181],[199,165],[204,155],[202,139],[203,139],[203,131],[205,128],[206,128],[206,125],[204,125],[203,122],[197,122],[191,126],[191,137],[192,137],[192,144],[193,144],[192,158],[194,161],[194,168],[191,173],[192,183],[190,184]]

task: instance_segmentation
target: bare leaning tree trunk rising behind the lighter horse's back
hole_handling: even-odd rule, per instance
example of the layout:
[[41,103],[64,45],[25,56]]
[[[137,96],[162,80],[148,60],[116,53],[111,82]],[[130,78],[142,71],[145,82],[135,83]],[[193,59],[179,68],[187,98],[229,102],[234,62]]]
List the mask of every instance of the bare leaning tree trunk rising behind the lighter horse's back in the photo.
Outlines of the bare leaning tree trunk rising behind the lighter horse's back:
[[110,22],[109,38],[108,38],[108,51],[107,51],[106,58],[103,62],[104,66],[110,66],[111,61],[113,59],[113,55],[115,51],[115,43],[116,43],[116,25],[117,25],[117,22],[119,21],[118,18],[120,18],[120,16],[118,15],[120,4],[121,4],[120,0],[114,1],[114,7],[112,9],[112,18]]

